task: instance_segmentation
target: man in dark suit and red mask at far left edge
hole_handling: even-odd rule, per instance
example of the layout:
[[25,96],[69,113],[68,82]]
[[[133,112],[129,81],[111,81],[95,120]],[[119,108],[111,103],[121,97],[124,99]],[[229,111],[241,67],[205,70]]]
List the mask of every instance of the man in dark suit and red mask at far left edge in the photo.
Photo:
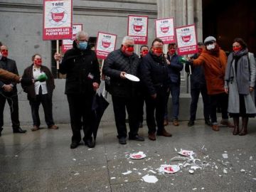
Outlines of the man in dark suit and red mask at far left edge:
[[[7,46],[1,46],[0,48],[2,58],[0,60],[0,68],[7,70],[11,73],[18,75],[18,70],[15,60],[8,58]],[[4,125],[4,106],[6,100],[11,110],[11,122],[14,133],[25,133],[26,130],[21,129],[18,119],[18,95],[16,82],[11,80],[0,80],[0,136]]]

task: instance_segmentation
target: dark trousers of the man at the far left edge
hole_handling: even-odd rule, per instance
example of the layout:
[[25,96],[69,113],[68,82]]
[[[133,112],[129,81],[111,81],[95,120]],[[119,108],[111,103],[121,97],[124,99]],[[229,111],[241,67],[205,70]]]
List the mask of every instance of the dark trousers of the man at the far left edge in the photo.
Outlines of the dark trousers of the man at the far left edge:
[[12,127],[13,129],[16,129],[20,127],[20,122],[18,120],[18,95],[16,94],[1,95],[1,94],[0,94],[0,128],[4,126],[4,106],[7,100],[11,110]]

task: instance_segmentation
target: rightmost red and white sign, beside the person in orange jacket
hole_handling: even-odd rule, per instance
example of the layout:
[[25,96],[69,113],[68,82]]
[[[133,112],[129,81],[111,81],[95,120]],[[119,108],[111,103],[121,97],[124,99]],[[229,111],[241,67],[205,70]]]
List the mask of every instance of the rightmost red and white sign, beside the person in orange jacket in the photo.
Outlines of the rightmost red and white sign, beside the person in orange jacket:
[[198,53],[195,24],[175,28],[178,55]]

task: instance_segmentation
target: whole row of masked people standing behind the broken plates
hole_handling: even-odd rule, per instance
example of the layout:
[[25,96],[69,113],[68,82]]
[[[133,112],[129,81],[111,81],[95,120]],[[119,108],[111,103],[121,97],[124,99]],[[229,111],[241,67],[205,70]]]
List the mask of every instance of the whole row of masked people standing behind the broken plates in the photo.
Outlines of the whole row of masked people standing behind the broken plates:
[[[95,147],[92,131],[95,114],[92,103],[95,92],[100,85],[100,68],[95,51],[88,44],[89,36],[84,31],[76,34],[73,48],[62,57],[55,53],[54,58],[60,62],[60,73],[66,74],[65,94],[70,110],[72,129],[71,149],[79,146],[81,140],[88,147]],[[233,127],[233,134],[247,134],[249,117],[255,117],[255,78],[256,67],[253,53],[249,53],[242,38],[235,38],[233,51],[225,54],[213,36],[208,36],[203,43],[198,43],[198,53],[186,58],[184,63],[177,55],[176,43],[168,45],[164,54],[164,42],[155,38],[149,46],[141,46],[140,56],[134,53],[134,39],[125,36],[122,45],[112,51],[102,67],[102,74],[108,79],[107,91],[112,95],[114,119],[117,127],[119,144],[129,140],[144,141],[138,134],[142,127],[144,102],[146,104],[146,125],[148,138],[156,136],[171,137],[165,126],[169,124],[168,101],[171,94],[171,122],[178,126],[179,95],[181,87],[181,70],[185,65],[191,75],[191,106],[188,127],[196,120],[198,97],[203,97],[203,116],[206,124],[214,131],[219,131],[216,108],[221,108],[220,124]],[[18,121],[18,96],[16,82],[21,82],[24,92],[28,93],[33,119],[32,131],[40,129],[38,107],[43,105],[46,124],[49,129],[58,129],[53,121],[52,96],[54,79],[50,70],[42,65],[41,55],[32,57],[33,64],[24,70],[22,78],[18,77],[16,63],[7,57],[8,49],[1,46],[1,95],[0,95],[0,135],[3,111],[6,100],[12,107],[11,120],[14,132],[23,133]],[[7,72],[7,71],[11,72]],[[14,75],[14,74],[16,75]],[[127,74],[137,76],[140,81],[132,81]],[[46,75],[46,80],[38,80]],[[127,133],[126,113],[128,114],[129,132]],[[233,118],[233,123],[228,117]],[[242,128],[239,118],[242,117]],[[81,136],[81,129],[84,136]]]

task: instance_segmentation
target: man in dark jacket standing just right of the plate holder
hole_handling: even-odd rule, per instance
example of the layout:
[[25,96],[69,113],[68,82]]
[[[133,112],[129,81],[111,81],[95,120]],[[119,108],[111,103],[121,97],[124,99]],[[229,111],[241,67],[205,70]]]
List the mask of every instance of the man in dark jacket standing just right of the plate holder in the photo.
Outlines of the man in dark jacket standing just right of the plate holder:
[[146,88],[146,124],[149,128],[149,139],[153,141],[156,140],[156,134],[171,137],[171,134],[164,129],[168,70],[163,46],[163,41],[156,38],[140,65],[142,82]]

